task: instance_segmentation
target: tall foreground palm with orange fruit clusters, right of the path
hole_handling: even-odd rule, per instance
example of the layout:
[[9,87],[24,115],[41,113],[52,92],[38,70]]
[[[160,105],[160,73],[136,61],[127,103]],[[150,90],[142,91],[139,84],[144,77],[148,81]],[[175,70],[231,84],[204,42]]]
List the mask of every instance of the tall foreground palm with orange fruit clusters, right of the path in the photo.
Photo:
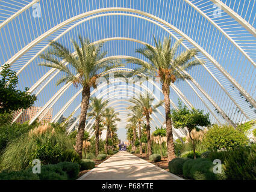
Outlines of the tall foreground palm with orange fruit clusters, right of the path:
[[166,118],[166,137],[168,160],[175,158],[173,134],[172,134],[172,119],[170,118],[170,83],[174,83],[177,79],[189,79],[184,73],[184,70],[203,62],[196,59],[195,56],[199,50],[189,49],[177,54],[178,47],[183,39],[176,41],[171,47],[171,39],[164,38],[163,43],[160,40],[155,40],[155,47],[147,44],[144,48],[136,49],[137,53],[145,56],[149,62],[142,61],[137,58],[126,59],[126,62],[132,62],[140,65],[134,71],[135,74],[144,74],[148,77],[160,77],[162,91],[164,95],[164,109]]

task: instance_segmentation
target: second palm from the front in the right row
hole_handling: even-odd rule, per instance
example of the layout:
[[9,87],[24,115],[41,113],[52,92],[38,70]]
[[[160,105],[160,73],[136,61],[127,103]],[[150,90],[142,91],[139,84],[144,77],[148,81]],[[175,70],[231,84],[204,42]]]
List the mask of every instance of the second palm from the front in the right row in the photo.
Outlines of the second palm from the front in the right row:
[[134,97],[130,100],[131,103],[135,104],[140,110],[146,119],[146,131],[147,131],[147,140],[148,140],[148,151],[147,155],[152,154],[151,148],[151,139],[150,139],[150,115],[152,112],[157,110],[157,107],[160,107],[163,104],[163,101],[159,101],[157,104],[152,104],[155,98],[152,97],[149,92],[146,92],[144,95],[139,95],[138,98]]

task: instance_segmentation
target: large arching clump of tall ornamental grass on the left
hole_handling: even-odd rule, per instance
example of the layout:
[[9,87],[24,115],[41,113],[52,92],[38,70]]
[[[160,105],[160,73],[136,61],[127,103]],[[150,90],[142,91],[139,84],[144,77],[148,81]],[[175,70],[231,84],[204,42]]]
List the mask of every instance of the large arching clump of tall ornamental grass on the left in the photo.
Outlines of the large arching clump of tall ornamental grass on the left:
[[[39,127],[40,128],[40,127]],[[8,169],[22,170],[30,167],[33,160],[33,154],[38,145],[57,145],[61,152],[66,149],[73,149],[72,140],[66,134],[55,132],[51,127],[42,127],[41,129],[31,130],[30,133],[23,134],[19,138],[11,141],[1,155],[0,170]]]

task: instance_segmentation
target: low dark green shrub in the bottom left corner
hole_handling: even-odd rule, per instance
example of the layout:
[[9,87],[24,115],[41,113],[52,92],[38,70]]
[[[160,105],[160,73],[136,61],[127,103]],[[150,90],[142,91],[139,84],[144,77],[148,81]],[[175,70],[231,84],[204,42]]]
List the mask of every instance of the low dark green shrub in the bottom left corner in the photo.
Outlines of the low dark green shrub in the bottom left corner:
[[2,171],[0,173],[0,180],[39,180],[39,176],[31,170],[21,170],[18,172]]

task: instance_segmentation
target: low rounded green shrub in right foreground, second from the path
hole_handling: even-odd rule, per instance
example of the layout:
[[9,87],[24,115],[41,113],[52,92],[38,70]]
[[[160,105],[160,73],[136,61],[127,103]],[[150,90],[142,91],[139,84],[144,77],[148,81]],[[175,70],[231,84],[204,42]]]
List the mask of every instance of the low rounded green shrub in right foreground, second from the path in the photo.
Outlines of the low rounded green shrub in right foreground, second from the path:
[[197,158],[187,160],[183,165],[183,175],[189,179],[195,180],[222,180],[225,179],[225,173],[213,173],[213,162],[206,158]]

